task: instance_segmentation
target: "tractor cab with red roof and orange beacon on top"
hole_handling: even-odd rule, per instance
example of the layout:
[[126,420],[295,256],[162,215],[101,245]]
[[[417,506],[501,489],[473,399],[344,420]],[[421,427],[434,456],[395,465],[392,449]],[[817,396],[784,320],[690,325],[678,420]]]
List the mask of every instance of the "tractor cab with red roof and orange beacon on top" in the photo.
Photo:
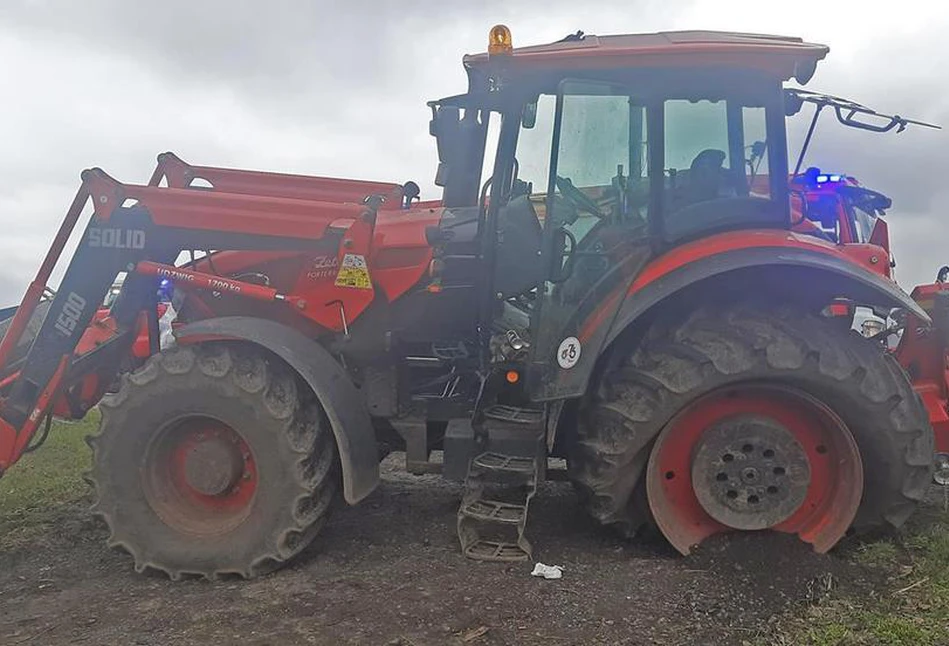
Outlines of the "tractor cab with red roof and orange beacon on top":
[[[827,53],[800,39],[572,35],[514,49],[503,26],[465,58],[468,93],[434,102],[437,183],[477,209],[482,320],[526,360],[535,401],[581,395],[633,281],[669,249],[791,228],[785,94]],[[497,127],[493,167],[483,163]],[[490,281],[490,282],[489,282]],[[520,339],[520,336],[518,336]]]

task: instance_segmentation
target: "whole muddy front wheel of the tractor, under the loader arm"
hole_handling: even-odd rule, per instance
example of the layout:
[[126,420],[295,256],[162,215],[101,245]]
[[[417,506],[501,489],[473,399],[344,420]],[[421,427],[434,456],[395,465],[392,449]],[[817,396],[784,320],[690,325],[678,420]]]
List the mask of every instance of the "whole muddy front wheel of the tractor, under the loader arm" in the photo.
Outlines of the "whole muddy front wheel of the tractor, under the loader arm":
[[101,409],[87,439],[93,512],[138,572],[266,574],[312,541],[338,497],[323,409],[284,364],[252,348],[157,354]]

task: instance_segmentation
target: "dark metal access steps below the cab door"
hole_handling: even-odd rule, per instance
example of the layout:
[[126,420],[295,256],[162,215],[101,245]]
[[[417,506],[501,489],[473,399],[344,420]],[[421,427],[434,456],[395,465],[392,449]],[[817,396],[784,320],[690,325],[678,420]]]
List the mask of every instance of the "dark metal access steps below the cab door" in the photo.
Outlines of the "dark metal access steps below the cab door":
[[525,561],[531,498],[544,477],[543,411],[492,406],[479,429],[482,451],[468,464],[458,508],[458,539],[477,561]]

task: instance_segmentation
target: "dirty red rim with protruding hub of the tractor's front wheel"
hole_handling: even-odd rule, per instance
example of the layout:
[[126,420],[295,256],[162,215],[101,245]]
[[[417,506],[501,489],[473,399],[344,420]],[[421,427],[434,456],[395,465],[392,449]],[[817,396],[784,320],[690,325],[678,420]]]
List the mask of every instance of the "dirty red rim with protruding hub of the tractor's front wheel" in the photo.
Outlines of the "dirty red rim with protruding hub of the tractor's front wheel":
[[145,454],[145,498],[166,525],[209,535],[227,532],[250,514],[257,465],[233,428],[209,417],[163,427]]

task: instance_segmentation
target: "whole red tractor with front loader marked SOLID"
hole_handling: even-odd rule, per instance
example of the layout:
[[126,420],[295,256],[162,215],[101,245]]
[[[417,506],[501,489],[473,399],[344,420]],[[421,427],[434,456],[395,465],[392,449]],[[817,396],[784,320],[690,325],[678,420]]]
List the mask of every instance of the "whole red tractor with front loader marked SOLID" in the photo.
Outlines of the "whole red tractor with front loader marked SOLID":
[[[949,290],[890,278],[885,197],[789,170],[804,103],[909,123],[784,88],[827,52],[714,32],[513,49],[498,26],[468,91],[429,104],[435,201],[170,153],[144,186],[85,171],[5,324],[0,470],[100,404],[94,511],[172,578],[281,566],[393,450],[465,483],[475,559],[530,557],[554,477],[682,553],[901,525],[949,453]],[[855,333],[858,310],[889,324]]]

